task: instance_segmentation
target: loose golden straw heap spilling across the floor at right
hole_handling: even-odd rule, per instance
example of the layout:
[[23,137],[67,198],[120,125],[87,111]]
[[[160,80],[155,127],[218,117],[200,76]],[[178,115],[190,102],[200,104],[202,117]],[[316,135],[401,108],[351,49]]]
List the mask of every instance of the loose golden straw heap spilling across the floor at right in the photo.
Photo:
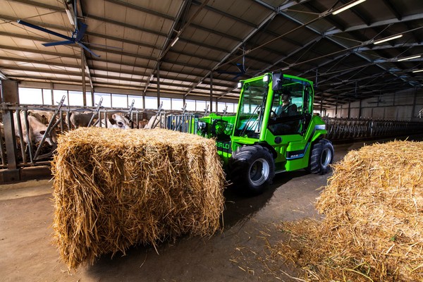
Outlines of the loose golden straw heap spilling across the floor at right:
[[271,258],[303,281],[423,281],[423,142],[349,152],[333,166],[317,209],[323,221],[282,223]]

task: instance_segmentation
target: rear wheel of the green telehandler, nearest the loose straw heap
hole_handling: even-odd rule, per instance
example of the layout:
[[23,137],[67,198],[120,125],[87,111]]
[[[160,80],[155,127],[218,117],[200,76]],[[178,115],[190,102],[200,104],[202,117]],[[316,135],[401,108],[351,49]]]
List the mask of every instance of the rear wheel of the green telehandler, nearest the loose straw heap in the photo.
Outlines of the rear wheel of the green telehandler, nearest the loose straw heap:
[[314,143],[309,161],[309,172],[314,174],[328,173],[331,170],[334,154],[335,151],[329,140],[320,139],[319,142]]

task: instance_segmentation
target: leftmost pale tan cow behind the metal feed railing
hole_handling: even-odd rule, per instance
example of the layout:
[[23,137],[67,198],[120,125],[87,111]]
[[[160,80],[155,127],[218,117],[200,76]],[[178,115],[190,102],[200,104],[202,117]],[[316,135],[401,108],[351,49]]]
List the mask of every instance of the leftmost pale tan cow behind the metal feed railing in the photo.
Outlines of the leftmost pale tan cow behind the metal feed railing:
[[[22,127],[22,137],[24,142],[26,143],[37,143],[42,140],[42,137],[44,137],[44,133],[46,133],[47,125],[39,121],[35,116],[27,116],[27,121],[29,125],[29,130],[26,128],[25,123],[25,116],[23,113],[20,113],[20,125]],[[20,137],[19,135],[19,128],[18,128],[18,121],[15,118],[15,135]],[[29,136],[28,136],[29,135]],[[44,140],[45,142],[48,142],[49,145],[53,146],[56,144],[56,133],[54,130],[51,130],[51,134],[46,137]]]

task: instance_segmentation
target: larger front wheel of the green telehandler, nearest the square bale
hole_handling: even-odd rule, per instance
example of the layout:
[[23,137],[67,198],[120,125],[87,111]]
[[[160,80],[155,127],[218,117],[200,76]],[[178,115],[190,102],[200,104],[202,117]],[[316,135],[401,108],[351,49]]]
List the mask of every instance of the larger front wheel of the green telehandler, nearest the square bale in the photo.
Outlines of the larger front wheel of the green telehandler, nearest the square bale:
[[274,159],[269,149],[259,145],[239,147],[228,163],[229,177],[240,192],[259,195],[275,176]]

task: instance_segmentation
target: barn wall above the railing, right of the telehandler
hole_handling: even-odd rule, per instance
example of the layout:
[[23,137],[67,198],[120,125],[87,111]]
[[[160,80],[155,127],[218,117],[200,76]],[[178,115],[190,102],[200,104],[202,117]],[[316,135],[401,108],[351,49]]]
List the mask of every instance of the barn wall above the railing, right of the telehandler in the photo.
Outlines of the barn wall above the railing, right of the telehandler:
[[339,104],[326,109],[326,116],[338,118],[374,118],[400,121],[423,118],[423,90],[405,90],[380,97],[364,99],[360,102]]

